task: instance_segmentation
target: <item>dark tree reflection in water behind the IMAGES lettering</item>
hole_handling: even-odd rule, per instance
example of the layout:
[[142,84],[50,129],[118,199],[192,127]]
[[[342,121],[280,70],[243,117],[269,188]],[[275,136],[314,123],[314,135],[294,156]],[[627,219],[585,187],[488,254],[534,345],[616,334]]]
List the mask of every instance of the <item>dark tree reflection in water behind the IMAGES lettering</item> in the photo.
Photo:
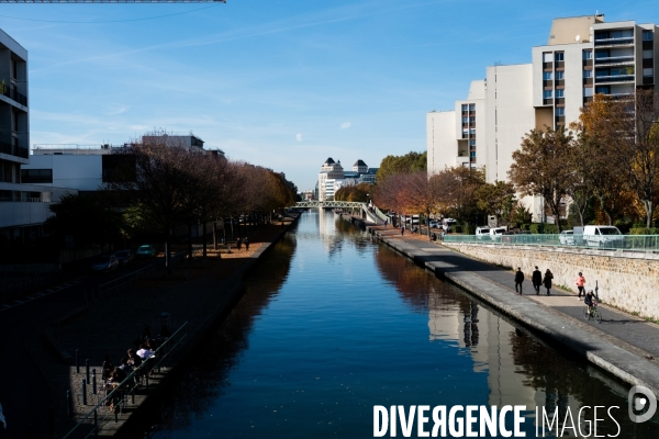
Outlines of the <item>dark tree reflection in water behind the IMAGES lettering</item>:
[[[584,367],[569,361],[558,351],[543,346],[533,337],[520,329],[510,334],[515,364],[518,365],[525,379],[524,385],[532,386],[536,391],[545,392],[545,410],[554,413],[558,407],[561,425],[568,409],[569,397],[577,401],[572,404],[571,414],[574,424],[578,423],[579,408],[582,406],[618,406],[619,409],[612,410],[615,420],[621,425],[619,438],[657,438],[659,428],[657,416],[655,423],[635,424],[627,416],[626,395],[616,395],[604,382],[591,376]],[[626,387],[626,385],[622,385]],[[577,410],[574,409],[576,407]],[[597,435],[616,435],[618,427],[611,420],[606,409],[597,410],[597,418],[604,418],[597,423]],[[550,415],[551,416],[551,415]],[[583,416],[590,420],[594,414],[592,409],[584,410]],[[583,432],[587,434],[584,425]],[[571,430],[566,430],[571,431]]]

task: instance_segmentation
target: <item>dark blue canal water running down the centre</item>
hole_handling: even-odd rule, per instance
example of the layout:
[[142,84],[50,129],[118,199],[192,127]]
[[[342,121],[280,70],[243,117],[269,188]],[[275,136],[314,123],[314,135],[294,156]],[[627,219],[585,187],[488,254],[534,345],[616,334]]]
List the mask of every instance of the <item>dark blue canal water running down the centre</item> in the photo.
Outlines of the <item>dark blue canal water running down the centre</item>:
[[[160,403],[150,437],[370,438],[376,405],[525,405],[526,437],[543,437],[536,407],[558,408],[561,425],[569,413],[576,425],[582,406],[618,406],[617,424],[600,409],[597,436],[659,437],[656,423],[629,421],[627,386],[331,211],[304,213],[246,288]],[[582,412],[583,436],[593,415]],[[546,428],[544,437],[557,436]]]

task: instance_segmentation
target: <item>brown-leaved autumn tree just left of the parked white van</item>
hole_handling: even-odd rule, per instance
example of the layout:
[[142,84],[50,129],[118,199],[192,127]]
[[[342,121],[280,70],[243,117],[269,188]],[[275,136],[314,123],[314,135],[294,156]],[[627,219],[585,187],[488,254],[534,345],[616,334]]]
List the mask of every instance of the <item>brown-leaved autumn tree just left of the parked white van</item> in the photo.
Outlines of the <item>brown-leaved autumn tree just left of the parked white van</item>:
[[573,154],[572,134],[558,130],[532,130],[513,153],[509,178],[522,195],[540,195],[556,218],[561,232],[561,200],[571,183],[573,172],[567,166]]

